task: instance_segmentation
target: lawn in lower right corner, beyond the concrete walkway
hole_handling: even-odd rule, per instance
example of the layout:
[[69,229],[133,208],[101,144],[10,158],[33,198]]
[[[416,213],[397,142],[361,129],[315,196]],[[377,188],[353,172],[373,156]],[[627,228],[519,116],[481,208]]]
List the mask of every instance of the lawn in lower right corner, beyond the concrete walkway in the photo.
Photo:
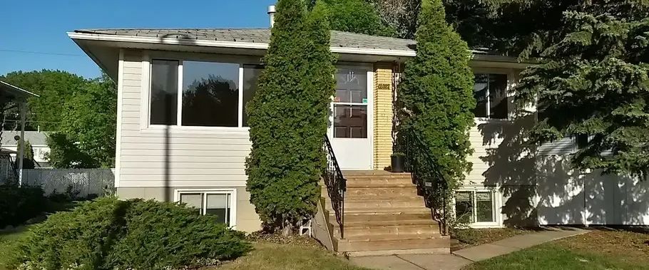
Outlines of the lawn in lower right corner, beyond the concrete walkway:
[[596,229],[464,269],[649,269],[649,234]]

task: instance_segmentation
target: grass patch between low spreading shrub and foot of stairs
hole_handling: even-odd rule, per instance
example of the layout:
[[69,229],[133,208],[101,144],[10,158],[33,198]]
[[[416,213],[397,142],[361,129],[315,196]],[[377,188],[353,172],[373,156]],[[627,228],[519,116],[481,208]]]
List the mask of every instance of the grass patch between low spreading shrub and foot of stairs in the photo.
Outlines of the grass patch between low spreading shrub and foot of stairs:
[[255,250],[212,270],[365,270],[314,244],[255,242]]

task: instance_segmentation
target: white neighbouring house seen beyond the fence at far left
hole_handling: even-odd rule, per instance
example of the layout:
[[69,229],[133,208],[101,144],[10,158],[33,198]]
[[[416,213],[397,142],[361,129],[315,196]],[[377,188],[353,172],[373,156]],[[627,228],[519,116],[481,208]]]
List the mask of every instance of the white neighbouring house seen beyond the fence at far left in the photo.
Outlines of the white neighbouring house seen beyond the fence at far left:
[[[20,137],[20,131],[15,130],[2,130],[1,134],[2,148],[7,150],[16,151],[18,149],[18,141],[16,138]],[[49,168],[51,167],[46,156],[50,152],[47,146],[47,135],[41,131],[25,131],[24,140],[31,144],[34,150],[34,165],[36,168]],[[11,154],[12,159],[16,159],[16,153]]]

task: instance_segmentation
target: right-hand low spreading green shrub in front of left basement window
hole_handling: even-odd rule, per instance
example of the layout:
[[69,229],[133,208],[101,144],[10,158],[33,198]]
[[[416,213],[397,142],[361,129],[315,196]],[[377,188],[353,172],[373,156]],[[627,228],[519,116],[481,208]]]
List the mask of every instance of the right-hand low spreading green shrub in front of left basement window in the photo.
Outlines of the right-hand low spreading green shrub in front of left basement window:
[[250,250],[242,233],[218,224],[215,216],[169,202],[131,201],[126,235],[112,246],[107,264],[117,269],[163,269],[198,259],[234,259]]

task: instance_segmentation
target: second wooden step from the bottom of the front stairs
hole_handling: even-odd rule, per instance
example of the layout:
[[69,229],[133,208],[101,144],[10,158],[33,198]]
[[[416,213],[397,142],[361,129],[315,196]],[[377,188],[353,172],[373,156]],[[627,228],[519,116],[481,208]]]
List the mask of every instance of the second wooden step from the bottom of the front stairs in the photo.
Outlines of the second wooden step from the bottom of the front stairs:
[[[337,224],[336,224],[337,225]],[[345,224],[344,237],[369,237],[374,239],[374,236],[394,235],[412,237],[418,235],[421,237],[434,237],[440,234],[439,226],[436,224],[426,225],[390,225],[390,226],[364,226],[364,227],[349,227]],[[332,226],[334,235],[340,235],[340,227]]]

